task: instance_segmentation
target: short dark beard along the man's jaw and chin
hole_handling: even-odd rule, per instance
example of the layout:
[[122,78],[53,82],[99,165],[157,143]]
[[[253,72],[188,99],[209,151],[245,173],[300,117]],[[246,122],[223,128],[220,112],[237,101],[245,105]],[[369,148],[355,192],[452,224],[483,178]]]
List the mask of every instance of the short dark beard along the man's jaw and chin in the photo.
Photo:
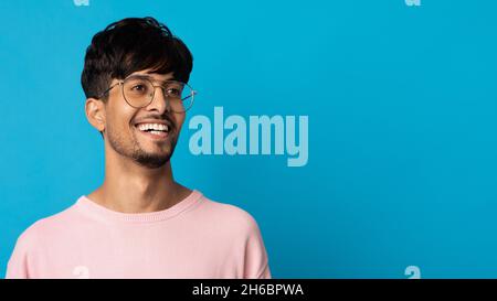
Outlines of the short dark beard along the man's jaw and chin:
[[167,143],[167,147],[161,147],[166,148],[165,151],[151,152],[145,150],[140,146],[135,133],[131,136],[131,141],[125,141],[126,139],[124,139],[119,133],[114,132],[112,128],[107,128],[107,138],[110,147],[120,155],[129,158],[136,163],[148,169],[158,169],[169,162],[178,141],[178,137],[173,133],[175,131],[171,129],[169,131],[169,139],[165,142]]

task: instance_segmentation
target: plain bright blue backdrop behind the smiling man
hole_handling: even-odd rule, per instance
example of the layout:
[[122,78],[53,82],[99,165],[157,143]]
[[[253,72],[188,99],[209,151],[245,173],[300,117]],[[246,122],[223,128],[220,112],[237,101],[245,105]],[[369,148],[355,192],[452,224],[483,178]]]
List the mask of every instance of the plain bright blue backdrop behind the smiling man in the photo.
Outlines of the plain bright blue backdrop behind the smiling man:
[[[1,1],[0,275],[104,175],[92,36],[152,15],[194,56],[193,115],[309,116],[309,160],[192,155],[176,179],[258,222],[274,278],[497,278],[497,2]],[[186,123],[188,125],[188,123]]]

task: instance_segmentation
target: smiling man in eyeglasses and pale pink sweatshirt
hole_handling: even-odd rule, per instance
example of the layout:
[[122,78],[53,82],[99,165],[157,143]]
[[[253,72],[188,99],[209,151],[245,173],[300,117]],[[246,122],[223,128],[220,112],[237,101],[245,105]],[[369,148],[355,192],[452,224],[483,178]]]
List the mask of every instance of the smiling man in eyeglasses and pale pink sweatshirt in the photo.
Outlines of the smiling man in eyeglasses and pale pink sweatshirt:
[[82,74],[105,181],[18,239],[7,278],[271,278],[255,219],[173,180],[192,55],[152,18],[97,33]]

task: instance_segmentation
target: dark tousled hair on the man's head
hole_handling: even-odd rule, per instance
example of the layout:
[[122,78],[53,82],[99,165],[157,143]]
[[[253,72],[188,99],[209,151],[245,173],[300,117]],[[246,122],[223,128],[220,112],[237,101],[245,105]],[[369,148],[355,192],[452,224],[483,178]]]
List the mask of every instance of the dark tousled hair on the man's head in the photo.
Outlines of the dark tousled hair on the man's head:
[[[126,18],[95,34],[86,49],[81,84],[86,98],[99,98],[113,78],[124,79],[134,72],[172,72],[188,83],[193,56],[187,45],[151,17]],[[102,97],[107,100],[107,96]]]

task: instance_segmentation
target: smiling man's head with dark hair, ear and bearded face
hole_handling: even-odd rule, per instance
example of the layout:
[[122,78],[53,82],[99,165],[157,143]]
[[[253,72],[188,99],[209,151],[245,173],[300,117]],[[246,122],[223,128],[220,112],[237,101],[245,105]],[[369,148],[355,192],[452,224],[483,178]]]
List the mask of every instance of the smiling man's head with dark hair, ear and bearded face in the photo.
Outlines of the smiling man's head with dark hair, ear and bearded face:
[[[126,88],[123,80],[142,75],[156,87],[163,86],[163,80],[187,84],[192,61],[184,43],[152,18],[124,19],[95,34],[86,50],[81,80],[86,116],[101,131],[106,147],[144,166],[159,168],[167,163],[186,114],[175,110],[165,88],[152,88],[149,104],[131,106],[123,93]],[[142,90],[140,86],[129,88]],[[144,122],[166,125],[167,133],[154,136],[140,130]]]

